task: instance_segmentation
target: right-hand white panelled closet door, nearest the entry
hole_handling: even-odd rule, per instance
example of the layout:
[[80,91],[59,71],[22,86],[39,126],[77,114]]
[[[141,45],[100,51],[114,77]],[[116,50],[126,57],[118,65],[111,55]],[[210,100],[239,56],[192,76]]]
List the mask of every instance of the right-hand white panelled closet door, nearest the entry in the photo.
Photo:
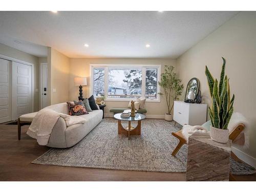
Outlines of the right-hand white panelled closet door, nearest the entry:
[[12,120],[32,113],[31,69],[31,66],[12,61]]

